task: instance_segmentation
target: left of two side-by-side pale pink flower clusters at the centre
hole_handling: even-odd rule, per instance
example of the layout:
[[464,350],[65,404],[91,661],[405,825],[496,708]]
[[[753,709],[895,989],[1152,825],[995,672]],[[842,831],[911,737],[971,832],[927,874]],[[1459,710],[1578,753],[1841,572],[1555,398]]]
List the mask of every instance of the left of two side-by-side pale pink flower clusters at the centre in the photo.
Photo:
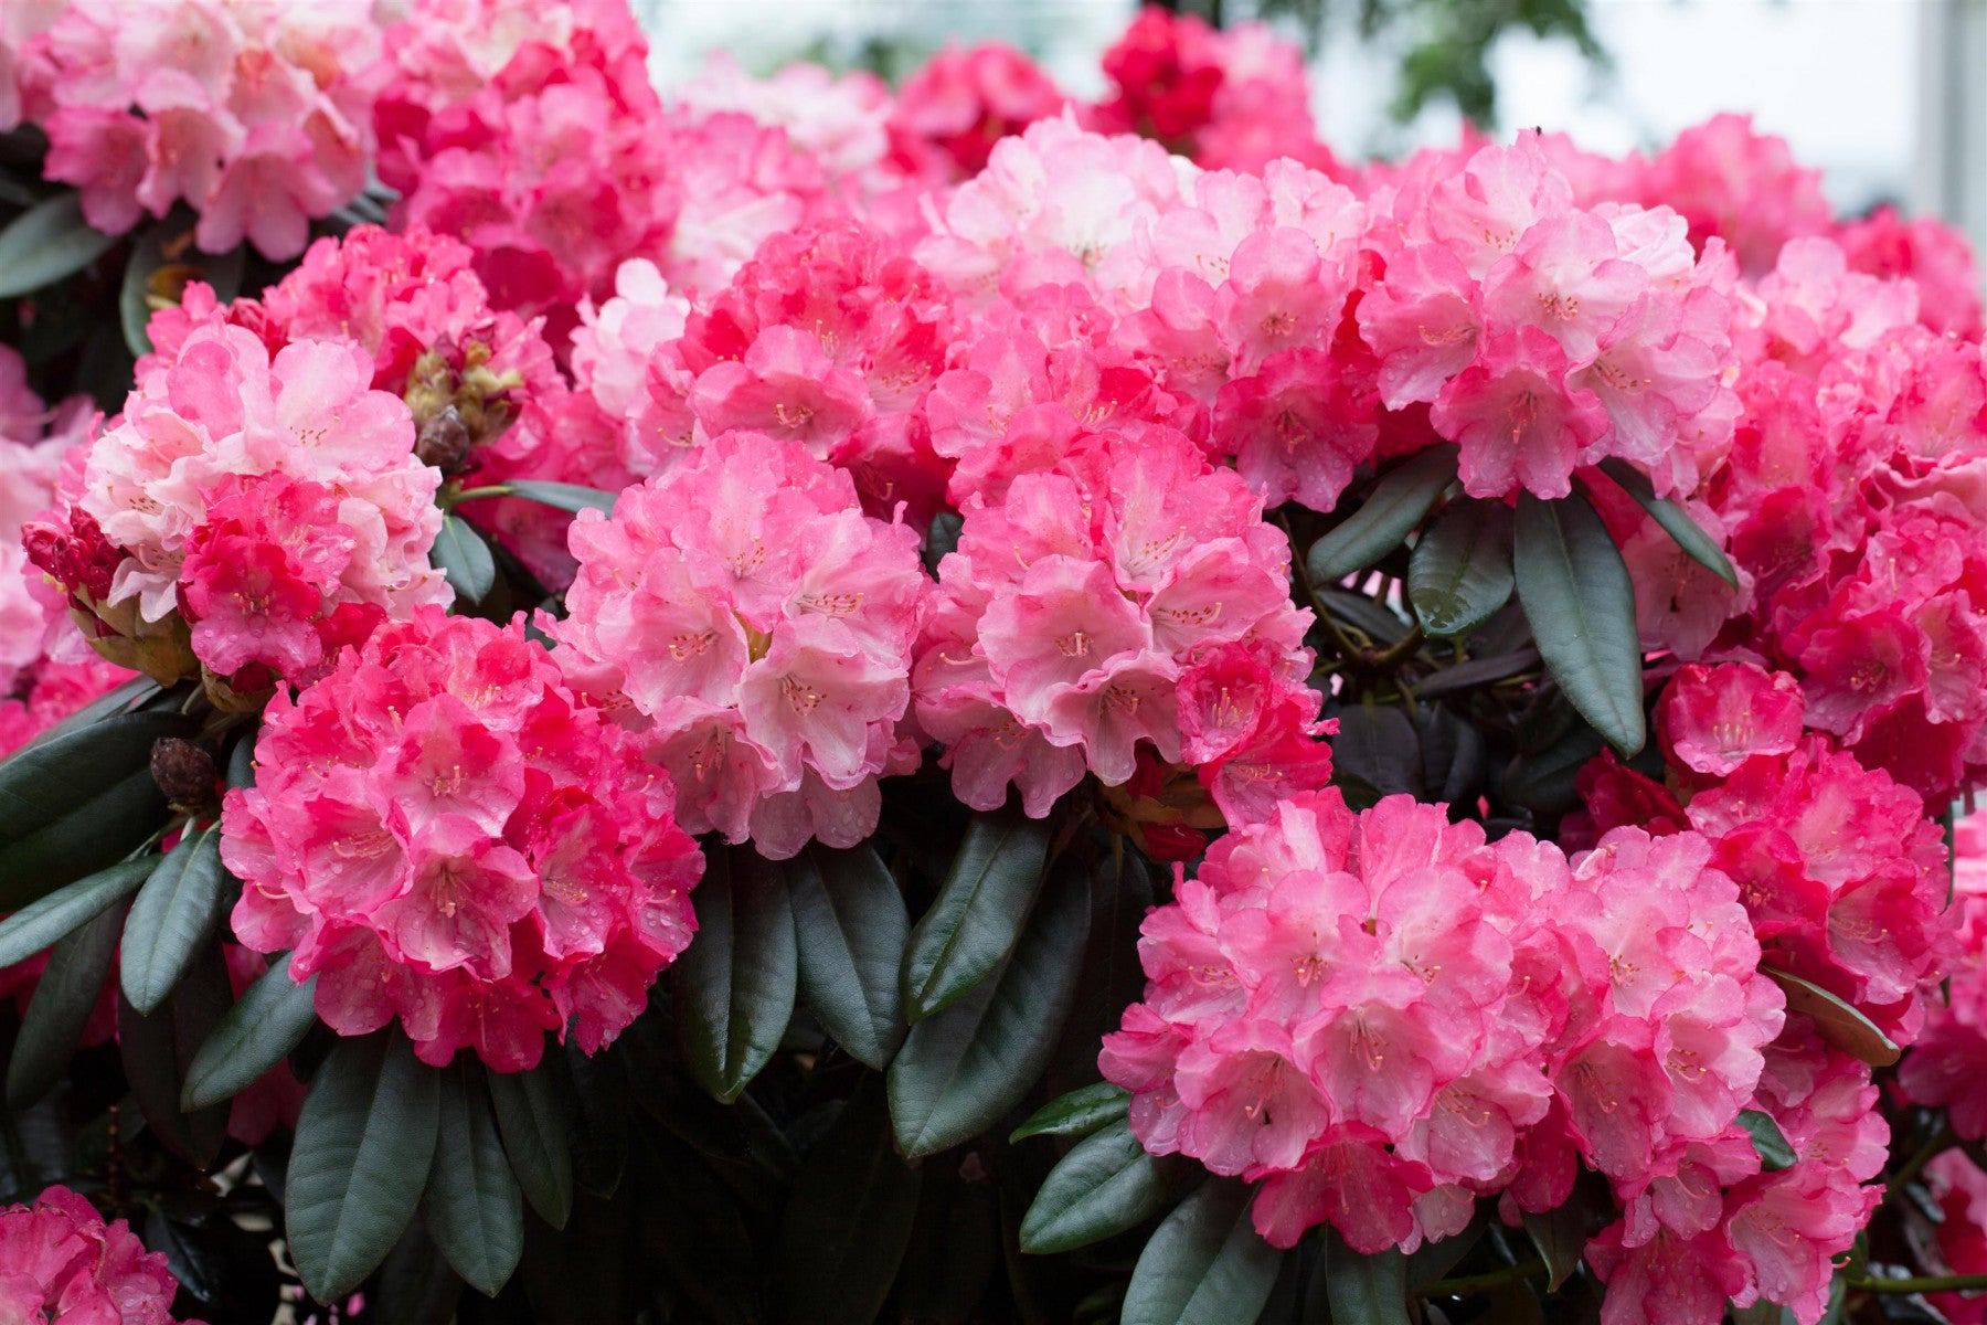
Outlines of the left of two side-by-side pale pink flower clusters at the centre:
[[918,532],[862,515],[795,441],[723,433],[572,524],[558,663],[642,733],[691,832],[793,856],[876,828],[926,578]]

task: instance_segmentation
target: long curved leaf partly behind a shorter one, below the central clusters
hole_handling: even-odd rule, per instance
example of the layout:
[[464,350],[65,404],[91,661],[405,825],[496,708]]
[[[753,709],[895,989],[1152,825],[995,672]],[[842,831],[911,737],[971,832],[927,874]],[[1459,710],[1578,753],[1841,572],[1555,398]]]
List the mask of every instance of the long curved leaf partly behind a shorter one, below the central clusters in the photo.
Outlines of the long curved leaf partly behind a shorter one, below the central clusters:
[[890,1116],[904,1154],[956,1146],[1027,1099],[1075,1001],[1089,924],[1089,878],[1059,872],[1013,954],[958,1003],[910,1027],[890,1063]]

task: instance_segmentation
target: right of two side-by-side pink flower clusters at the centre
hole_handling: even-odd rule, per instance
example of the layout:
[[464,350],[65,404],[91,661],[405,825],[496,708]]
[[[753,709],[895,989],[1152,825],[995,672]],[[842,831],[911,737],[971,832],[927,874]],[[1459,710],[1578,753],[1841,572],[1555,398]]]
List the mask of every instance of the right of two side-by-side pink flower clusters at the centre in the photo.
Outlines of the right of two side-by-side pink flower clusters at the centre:
[[1230,822],[1331,773],[1305,681],[1311,614],[1262,499],[1180,433],[1107,433],[1053,471],[974,495],[918,642],[918,725],[952,789],[1033,816],[1141,743],[1200,769]]

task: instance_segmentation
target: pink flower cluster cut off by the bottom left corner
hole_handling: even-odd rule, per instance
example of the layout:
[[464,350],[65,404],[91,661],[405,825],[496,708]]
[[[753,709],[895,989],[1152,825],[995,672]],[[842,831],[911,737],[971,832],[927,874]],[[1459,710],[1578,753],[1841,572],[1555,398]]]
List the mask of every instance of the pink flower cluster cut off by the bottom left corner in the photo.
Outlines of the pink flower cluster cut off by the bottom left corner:
[[177,1291],[163,1251],[70,1188],[0,1210],[0,1319],[173,1325]]

